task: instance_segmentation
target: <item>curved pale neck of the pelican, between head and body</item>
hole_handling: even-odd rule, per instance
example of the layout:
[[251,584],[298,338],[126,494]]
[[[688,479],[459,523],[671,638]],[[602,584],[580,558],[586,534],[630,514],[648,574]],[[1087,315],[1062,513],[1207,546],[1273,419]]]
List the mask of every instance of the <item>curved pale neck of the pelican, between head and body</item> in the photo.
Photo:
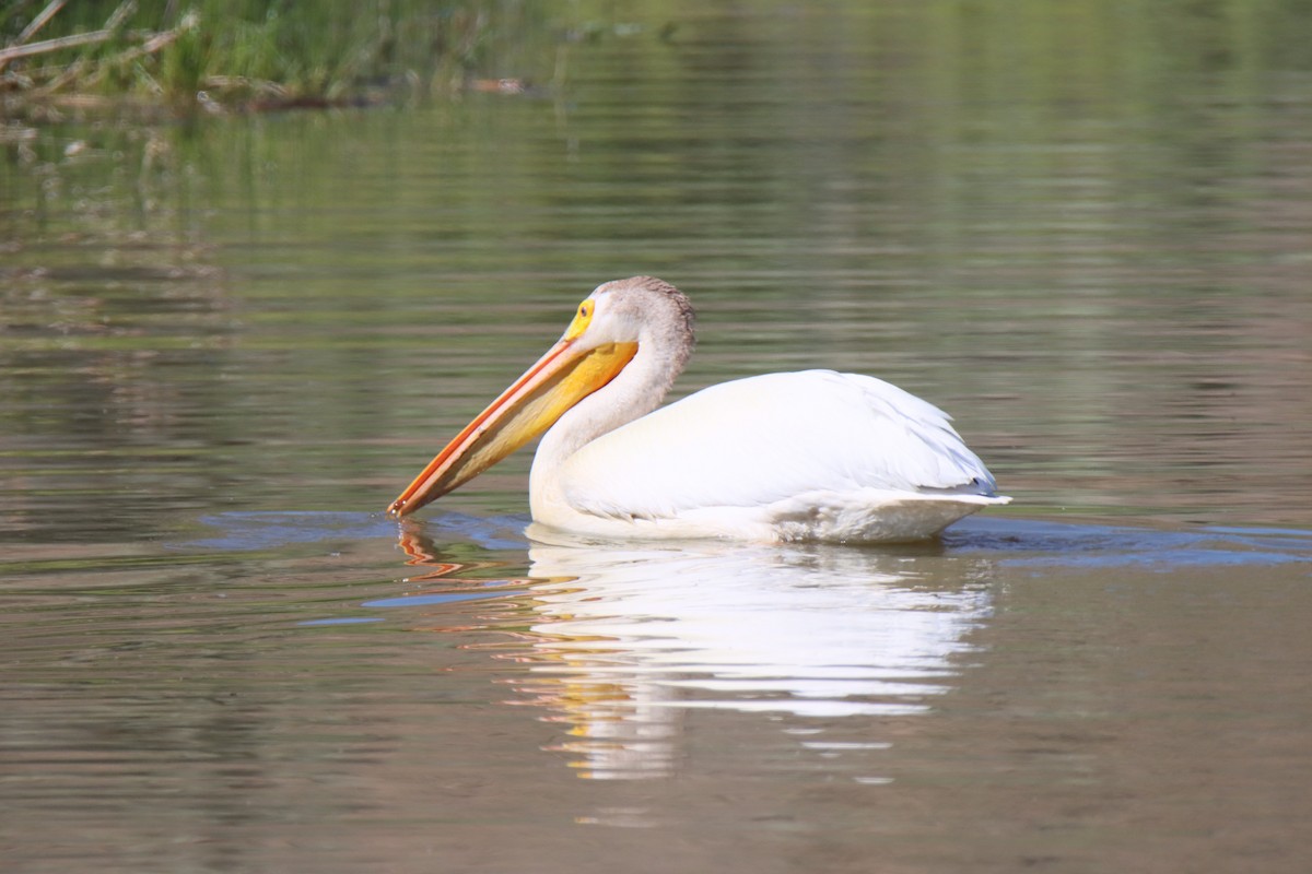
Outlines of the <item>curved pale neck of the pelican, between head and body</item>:
[[558,474],[569,456],[660,406],[691,354],[691,335],[677,328],[663,324],[644,330],[625,370],[565,411],[542,436],[529,477],[534,518],[539,518],[543,501],[560,499]]

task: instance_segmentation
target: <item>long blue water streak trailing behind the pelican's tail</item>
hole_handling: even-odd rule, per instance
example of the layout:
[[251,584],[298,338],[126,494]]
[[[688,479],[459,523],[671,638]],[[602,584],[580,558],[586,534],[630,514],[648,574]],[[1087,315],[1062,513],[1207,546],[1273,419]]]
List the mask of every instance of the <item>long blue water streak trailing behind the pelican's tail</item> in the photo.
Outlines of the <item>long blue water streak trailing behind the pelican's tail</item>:
[[1162,531],[985,518],[954,527],[945,535],[943,542],[954,552],[991,556],[1022,567],[1139,566],[1172,570],[1312,565],[1312,532],[1287,528]]

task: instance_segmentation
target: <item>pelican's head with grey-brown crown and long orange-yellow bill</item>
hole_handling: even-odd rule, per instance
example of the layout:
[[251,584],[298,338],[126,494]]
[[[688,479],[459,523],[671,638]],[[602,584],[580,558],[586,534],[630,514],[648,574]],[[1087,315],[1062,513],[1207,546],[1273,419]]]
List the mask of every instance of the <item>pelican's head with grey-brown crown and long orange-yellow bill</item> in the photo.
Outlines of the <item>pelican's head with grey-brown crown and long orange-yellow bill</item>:
[[[551,427],[613,380],[642,347],[677,375],[693,350],[693,307],[655,276],[588,295],[560,339],[443,448],[387,508],[404,516],[457,489]],[[673,379],[673,376],[670,376]]]

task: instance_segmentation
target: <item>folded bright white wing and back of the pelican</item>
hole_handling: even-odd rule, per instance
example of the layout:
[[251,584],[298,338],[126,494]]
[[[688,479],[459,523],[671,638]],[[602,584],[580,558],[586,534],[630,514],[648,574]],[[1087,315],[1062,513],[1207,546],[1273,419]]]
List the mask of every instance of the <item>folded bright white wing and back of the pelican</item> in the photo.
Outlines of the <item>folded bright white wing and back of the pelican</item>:
[[558,476],[573,510],[610,519],[756,512],[817,494],[869,502],[874,491],[988,495],[994,487],[938,408],[882,380],[833,371],[703,389],[588,443]]

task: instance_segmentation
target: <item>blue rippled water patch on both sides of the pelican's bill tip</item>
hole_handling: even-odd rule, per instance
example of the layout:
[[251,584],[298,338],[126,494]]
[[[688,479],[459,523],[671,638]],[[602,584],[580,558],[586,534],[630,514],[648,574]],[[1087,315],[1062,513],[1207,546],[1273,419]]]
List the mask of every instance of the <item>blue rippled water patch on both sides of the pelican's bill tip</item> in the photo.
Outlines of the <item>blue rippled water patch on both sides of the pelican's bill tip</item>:
[[199,522],[215,529],[209,537],[171,544],[178,549],[256,552],[325,540],[395,540],[401,524],[421,524],[434,540],[471,541],[484,549],[525,549],[522,516],[470,516],[449,512],[422,523],[398,523],[382,514],[327,511],[220,512]]

